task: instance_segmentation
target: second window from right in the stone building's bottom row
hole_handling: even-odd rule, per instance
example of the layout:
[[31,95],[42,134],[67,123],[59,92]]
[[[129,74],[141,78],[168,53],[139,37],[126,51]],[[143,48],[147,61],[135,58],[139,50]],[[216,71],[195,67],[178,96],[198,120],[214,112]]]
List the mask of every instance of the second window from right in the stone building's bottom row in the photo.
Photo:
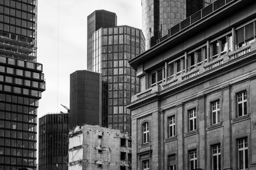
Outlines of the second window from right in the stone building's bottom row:
[[221,169],[220,144],[212,145],[212,170]]

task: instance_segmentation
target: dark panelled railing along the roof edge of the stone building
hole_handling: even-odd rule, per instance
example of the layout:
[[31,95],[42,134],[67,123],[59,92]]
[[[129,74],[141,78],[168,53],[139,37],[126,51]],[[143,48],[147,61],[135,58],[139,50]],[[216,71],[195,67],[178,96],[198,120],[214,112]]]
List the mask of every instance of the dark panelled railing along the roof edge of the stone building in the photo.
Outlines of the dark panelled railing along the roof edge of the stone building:
[[197,11],[193,15],[189,16],[188,18],[186,18],[185,20],[183,20],[179,24],[174,25],[173,27],[171,27],[168,30],[168,35],[163,36],[162,38],[158,39],[157,44],[164,41],[164,39],[167,39],[167,38],[173,36],[174,34],[177,34],[178,32],[182,31],[186,27],[189,27],[190,25],[194,24],[195,22],[198,22],[202,18],[207,17],[207,15],[210,15],[214,11],[219,10],[220,8],[222,8],[223,6],[225,6],[226,4],[228,4],[232,1],[236,1],[236,0],[217,0],[217,1],[214,1],[213,3],[209,4],[205,8],[202,8],[202,10]]

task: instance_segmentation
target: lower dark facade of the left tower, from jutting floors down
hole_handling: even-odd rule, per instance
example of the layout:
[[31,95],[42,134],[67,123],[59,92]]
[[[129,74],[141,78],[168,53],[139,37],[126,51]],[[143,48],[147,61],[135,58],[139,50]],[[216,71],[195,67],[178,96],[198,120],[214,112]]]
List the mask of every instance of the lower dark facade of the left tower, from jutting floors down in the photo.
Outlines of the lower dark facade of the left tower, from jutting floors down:
[[0,56],[0,169],[36,169],[36,115],[42,64]]

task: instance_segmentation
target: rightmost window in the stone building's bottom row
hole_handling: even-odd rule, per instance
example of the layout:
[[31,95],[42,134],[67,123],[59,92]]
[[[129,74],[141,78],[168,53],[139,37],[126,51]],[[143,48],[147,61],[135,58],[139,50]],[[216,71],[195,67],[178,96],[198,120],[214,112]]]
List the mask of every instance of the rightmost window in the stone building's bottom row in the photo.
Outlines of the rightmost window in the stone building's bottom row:
[[248,139],[241,138],[237,140],[238,145],[238,169],[248,169]]

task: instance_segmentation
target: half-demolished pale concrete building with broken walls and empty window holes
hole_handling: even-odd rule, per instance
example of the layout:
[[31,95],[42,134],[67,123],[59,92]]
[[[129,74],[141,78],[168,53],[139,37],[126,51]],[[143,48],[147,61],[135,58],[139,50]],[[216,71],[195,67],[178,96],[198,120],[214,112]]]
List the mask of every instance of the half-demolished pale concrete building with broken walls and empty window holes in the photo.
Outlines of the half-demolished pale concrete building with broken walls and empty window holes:
[[68,169],[131,169],[131,138],[98,125],[69,132]]

